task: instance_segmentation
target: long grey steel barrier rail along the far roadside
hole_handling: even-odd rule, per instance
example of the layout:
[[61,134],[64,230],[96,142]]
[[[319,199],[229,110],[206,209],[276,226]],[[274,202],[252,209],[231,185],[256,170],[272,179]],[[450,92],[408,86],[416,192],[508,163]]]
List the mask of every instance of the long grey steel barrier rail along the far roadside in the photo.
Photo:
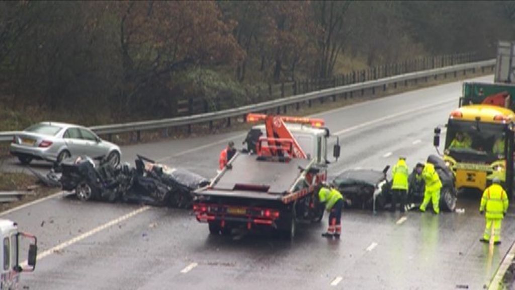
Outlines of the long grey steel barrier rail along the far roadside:
[[[408,82],[409,80],[418,80],[422,78],[429,77],[437,77],[438,75],[447,75],[449,73],[458,73],[463,72],[466,74],[467,70],[475,70],[475,69],[485,69],[495,66],[495,59],[464,63],[462,65],[455,65],[437,69],[431,69],[426,71],[418,71],[411,72],[402,75],[396,75],[376,80],[369,80],[367,82],[340,86],[336,88],[323,89],[319,91],[308,92],[299,95],[288,96],[286,98],[281,98],[277,100],[266,101],[258,104],[246,105],[242,107],[237,107],[233,109],[220,110],[215,112],[208,112],[204,114],[185,116],[185,117],[176,117],[169,119],[161,119],[161,120],[151,120],[151,121],[141,121],[141,122],[131,122],[131,123],[122,123],[122,124],[109,124],[109,125],[100,125],[100,126],[92,126],[90,127],[95,133],[99,135],[106,134],[117,134],[117,133],[126,133],[126,132],[141,132],[145,130],[157,130],[161,128],[168,127],[176,127],[183,125],[192,125],[198,123],[212,122],[220,119],[229,119],[239,116],[244,116],[249,112],[259,112],[269,109],[281,108],[288,105],[299,104],[306,101],[312,101],[320,98],[325,98],[327,96],[335,96],[343,93],[350,93],[355,91],[362,91],[365,89],[374,89],[377,87],[384,87],[401,82]],[[15,132],[0,132],[0,141],[9,141],[12,139],[13,134]],[[138,134],[139,135],[139,134]]]

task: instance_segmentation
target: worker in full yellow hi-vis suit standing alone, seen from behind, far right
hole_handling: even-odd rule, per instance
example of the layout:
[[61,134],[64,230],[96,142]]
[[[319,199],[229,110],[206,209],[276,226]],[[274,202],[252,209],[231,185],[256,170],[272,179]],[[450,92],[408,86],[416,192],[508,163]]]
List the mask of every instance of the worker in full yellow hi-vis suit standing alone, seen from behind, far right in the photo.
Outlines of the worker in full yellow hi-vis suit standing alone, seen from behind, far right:
[[483,198],[479,206],[480,214],[483,214],[486,209],[485,233],[480,241],[490,242],[490,231],[493,225],[493,242],[495,245],[501,244],[501,221],[506,211],[508,211],[508,196],[500,183],[499,178],[492,180],[492,185],[483,192]]

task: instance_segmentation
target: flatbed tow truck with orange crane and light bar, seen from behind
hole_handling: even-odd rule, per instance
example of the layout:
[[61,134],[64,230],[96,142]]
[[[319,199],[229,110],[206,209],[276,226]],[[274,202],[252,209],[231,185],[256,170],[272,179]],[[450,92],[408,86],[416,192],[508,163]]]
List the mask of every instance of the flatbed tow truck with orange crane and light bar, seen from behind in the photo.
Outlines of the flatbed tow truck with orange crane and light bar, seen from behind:
[[[263,133],[255,154],[237,152],[209,186],[195,191],[195,216],[211,234],[272,228],[293,238],[298,221],[323,216],[317,190],[327,179],[329,130],[322,119],[302,117],[248,114],[247,122],[265,123],[252,128]],[[337,140],[333,156],[339,154]]]

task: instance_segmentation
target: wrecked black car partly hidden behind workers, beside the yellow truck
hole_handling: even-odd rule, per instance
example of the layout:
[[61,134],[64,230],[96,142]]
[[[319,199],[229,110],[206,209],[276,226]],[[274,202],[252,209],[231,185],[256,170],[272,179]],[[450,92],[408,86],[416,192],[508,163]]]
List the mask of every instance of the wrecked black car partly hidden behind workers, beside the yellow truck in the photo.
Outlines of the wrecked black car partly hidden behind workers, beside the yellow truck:
[[[440,208],[454,212],[456,208],[457,191],[454,187],[454,176],[443,160],[436,155],[430,155],[427,162],[435,166],[442,182],[440,189]],[[347,207],[368,210],[383,210],[391,205],[391,180],[387,177],[389,166],[383,171],[371,169],[347,170],[338,175],[332,185],[345,197]],[[418,208],[424,198],[424,181],[416,178],[416,168],[409,175],[407,205],[408,208]]]

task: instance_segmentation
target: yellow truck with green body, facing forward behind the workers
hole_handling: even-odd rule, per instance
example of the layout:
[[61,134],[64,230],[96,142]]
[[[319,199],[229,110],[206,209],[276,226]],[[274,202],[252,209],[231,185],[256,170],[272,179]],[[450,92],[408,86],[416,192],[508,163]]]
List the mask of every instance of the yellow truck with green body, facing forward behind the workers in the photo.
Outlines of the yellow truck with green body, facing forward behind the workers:
[[511,196],[515,119],[511,92],[515,86],[507,84],[464,84],[460,107],[451,112],[446,125],[443,156],[454,173],[456,189],[483,191],[498,177]]

